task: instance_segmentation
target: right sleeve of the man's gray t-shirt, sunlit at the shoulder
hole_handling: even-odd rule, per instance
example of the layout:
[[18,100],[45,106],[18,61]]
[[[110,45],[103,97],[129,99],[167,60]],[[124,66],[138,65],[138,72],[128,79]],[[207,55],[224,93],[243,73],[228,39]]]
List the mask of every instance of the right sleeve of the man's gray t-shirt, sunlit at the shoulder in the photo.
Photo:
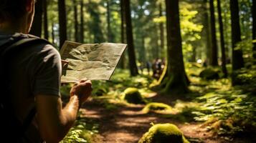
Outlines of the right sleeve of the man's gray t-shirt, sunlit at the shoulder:
[[33,94],[60,96],[62,66],[59,52],[52,45],[47,44],[35,55],[32,61],[34,64]]

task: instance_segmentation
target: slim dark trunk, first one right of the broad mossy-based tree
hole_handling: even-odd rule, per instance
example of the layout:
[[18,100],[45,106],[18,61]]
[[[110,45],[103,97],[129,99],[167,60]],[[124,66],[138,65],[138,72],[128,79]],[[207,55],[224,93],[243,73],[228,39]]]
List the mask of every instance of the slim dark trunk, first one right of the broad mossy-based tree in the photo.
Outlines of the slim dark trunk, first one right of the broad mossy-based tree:
[[209,59],[211,59],[211,31],[209,29],[209,15],[208,15],[208,10],[207,9],[207,4],[208,4],[208,0],[204,0],[204,30],[205,30],[205,36],[207,39],[207,44],[206,44],[206,51],[207,51],[207,64],[209,64]]

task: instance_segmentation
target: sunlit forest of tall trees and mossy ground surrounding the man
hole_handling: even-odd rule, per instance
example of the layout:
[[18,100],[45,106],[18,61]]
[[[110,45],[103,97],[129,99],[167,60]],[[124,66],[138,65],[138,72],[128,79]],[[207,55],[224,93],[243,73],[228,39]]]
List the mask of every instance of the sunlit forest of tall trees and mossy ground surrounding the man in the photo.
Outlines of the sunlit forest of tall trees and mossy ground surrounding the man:
[[[37,0],[31,34],[128,44],[65,142],[256,142],[256,0]],[[62,100],[72,84],[62,84]]]

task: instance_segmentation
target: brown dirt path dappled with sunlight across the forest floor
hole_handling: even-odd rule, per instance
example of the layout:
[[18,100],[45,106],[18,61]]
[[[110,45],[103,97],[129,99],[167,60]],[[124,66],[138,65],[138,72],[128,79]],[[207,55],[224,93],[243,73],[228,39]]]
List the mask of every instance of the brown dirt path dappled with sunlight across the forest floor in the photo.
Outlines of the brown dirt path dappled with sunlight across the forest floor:
[[143,114],[141,112],[143,105],[129,105],[120,107],[116,110],[110,111],[104,107],[96,104],[94,101],[89,101],[82,109],[82,116],[95,120],[99,123],[99,136],[97,143],[135,143],[143,136],[145,132],[151,127],[151,122],[158,123],[172,123],[176,124],[186,138],[192,142],[242,142],[227,140],[224,138],[214,138],[205,128],[201,127],[199,123],[183,123],[157,116],[157,114]]

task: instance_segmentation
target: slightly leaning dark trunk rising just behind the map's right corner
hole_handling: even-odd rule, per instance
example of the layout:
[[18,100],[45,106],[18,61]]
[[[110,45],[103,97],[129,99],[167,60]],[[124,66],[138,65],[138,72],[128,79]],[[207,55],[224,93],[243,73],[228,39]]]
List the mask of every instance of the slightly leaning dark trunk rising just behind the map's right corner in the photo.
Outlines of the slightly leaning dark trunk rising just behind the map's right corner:
[[124,0],[124,10],[125,10],[125,22],[126,22],[126,39],[128,44],[128,56],[129,56],[129,66],[131,71],[131,76],[138,75],[138,68],[136,66],[136,54],[133,44],[133,28],[131,24],[131,7],[130,0]]

